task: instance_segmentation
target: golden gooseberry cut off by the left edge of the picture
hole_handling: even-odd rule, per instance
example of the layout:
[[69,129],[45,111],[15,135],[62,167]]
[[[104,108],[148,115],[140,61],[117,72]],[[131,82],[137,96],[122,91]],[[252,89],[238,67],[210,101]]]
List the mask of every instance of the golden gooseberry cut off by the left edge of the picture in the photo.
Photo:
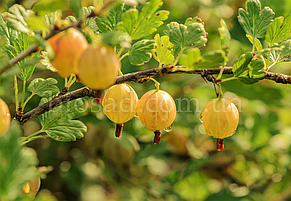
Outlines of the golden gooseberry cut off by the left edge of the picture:
[[11,116],[7,104],[0,98],[0,137],[3,136],[10,126]]

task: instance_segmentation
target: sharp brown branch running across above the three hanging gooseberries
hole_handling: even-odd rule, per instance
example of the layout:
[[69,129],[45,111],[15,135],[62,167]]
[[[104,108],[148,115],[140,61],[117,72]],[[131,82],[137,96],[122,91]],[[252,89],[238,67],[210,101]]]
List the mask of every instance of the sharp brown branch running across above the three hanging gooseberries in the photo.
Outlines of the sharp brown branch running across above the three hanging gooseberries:
[[[173,66],[166,66],[163,68],[153,68],[150,70],[128,73],[122,76],[118,76],[115,84],[122,84],[122,83],[128,83],[128,82],[142,83],[145,80],[149,80],[149,78],[151,77],[170,75],[170,74],[199,74],[202,76],[207,76],[207,75],[219,74],[220,70],[221,70],[220,68],[216,68],[216,69],[199,69],[199,70],[186,71],[183,66],[176,66],[175,68],[173,68]],[[233,74],[232,67],[225,67],[223,70],[223,74]],[[282,84],[291,84],[290,76],[279,74],[279,73],[267,72],[265,79],[273,80],[277,83],[282,83]],[[31,110],[30,112],[27,112],[26,114],[22,116],[22,118],[17,119],[17,120],[21,124],[24,124],[28,120],[38,117],[39,115],[49,110],[52,110],[53,108],[60,106],[61,104],[64,104],[64,103],[67,103],[68,101],[72,101],[77,98],[82,98],[85,96],[95,97],[95,90],[89,89],[88,87],[83,87],[76,91],[72,91],[68,94],[58,96],[54,98],[53,100]]]

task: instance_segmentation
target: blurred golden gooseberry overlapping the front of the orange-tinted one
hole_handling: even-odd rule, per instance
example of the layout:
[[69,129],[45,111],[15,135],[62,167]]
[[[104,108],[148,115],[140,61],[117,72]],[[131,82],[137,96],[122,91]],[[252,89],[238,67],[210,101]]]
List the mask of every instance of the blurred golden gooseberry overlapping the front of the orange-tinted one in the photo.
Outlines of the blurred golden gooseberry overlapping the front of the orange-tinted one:
[[80,57],[76,74],[84,85],[91,89],[102,90],[114,84],[118,68],[118,56],[112,47],[88,46]]

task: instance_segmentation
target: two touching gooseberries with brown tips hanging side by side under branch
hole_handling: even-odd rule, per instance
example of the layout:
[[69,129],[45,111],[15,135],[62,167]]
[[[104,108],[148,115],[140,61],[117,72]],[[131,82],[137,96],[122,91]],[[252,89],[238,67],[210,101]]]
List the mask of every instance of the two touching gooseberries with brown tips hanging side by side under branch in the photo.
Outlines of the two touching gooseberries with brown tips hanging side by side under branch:
[[115,85],[106,91],[102,106],[104,114],[116,123],[116,137],[121,135],[123,123],[137,113],[141,123],[155,133],[154,143],[157,144],[160,143],[160,130],[169,127],[176,116],[173,98],[159,88],[148,91],[138,100],[129,85]]

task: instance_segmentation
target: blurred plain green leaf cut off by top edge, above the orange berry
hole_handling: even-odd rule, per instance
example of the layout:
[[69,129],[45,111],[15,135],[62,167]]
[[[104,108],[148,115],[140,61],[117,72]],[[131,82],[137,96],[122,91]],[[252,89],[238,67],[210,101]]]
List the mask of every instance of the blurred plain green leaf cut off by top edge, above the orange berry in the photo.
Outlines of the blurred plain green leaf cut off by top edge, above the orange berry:
[[32,10],[39,16],[44,16],[57,10],[64,10],[67,2],[64,0],[39,0],[33,4]]

